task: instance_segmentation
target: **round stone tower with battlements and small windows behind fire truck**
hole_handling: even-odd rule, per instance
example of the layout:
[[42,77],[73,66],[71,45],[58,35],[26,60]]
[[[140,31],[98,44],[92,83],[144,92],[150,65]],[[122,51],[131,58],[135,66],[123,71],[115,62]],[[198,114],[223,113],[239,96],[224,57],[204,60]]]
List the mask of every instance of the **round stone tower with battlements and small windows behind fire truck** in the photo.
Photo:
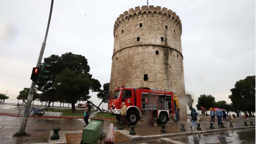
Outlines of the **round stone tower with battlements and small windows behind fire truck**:
[[119,15],[110,91],[122,84],[173,91],[179,98],[179,119],[186,121],[181,27],[179,16],[160,6],[138,6]]

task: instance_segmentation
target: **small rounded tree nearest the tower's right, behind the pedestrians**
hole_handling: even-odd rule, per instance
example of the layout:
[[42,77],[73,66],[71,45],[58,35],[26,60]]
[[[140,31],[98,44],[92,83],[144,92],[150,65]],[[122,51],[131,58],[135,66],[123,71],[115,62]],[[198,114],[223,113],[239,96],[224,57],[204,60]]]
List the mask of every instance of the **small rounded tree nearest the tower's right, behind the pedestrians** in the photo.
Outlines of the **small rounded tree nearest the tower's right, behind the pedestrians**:
[[215,97],[213,97],[212,95],[205,95],[202,94],[198,97],[198,101],[197,101],[197,109],[200,110],[201,107],[204,107],[205,109],[209,110],[210,107],[215,107]]

